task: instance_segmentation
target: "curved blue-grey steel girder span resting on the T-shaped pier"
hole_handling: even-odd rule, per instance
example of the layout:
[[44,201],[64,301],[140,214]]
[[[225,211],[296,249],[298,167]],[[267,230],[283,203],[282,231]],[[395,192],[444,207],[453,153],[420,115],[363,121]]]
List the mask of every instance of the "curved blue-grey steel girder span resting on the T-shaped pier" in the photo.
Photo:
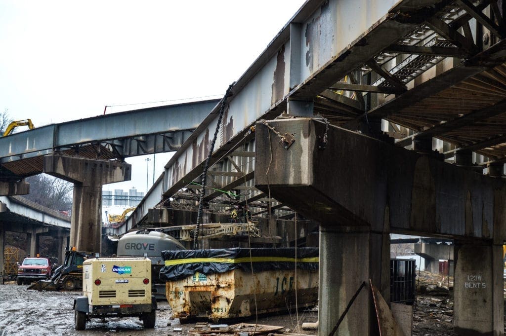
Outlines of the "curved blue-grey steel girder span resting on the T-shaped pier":
[[207,100],[51,124],[0,137],[0,181],[43,172],[51,153],[112,160],[178,150],[218,103]]

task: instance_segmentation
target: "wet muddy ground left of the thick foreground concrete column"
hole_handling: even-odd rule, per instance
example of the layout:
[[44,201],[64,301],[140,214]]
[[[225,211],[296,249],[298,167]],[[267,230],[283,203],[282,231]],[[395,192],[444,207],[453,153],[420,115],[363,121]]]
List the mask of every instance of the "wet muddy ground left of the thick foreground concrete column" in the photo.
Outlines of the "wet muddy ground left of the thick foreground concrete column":
[[[27,290],[26,285],[14,282],[0,284],[0,336],[9,335],[186,335],[196,324],[179,324],[171,319],[172,311],[165,301],[158,302],[154,329],[144,329],[139,318],[92,319],[86,330],[74,330],[74,298],[80,292],[38,292]],[[317,312],[299,312],[302,322],[317,320]],[[255,320],[246,321],[255,323]],[[297,327],[295,314],[274,315],[259,318],[259,324],[283,326],[290,331]],[[174,328],[182,328],[175,331]],[[298,330],[297,330],[298,331]],[[301,333],[316,334],[313,331]]]

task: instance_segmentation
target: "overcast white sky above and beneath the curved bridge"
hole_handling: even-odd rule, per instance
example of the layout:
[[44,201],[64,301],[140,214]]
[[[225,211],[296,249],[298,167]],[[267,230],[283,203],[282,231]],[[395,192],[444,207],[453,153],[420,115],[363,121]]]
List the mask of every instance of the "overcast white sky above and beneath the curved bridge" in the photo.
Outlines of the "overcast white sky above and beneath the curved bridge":
[[[304,2],[0,0],[0,111],[37,127],[221,97]],[[167,158],[156,155],[155,178]],[[146,191],[144,160],[104,190]]]

